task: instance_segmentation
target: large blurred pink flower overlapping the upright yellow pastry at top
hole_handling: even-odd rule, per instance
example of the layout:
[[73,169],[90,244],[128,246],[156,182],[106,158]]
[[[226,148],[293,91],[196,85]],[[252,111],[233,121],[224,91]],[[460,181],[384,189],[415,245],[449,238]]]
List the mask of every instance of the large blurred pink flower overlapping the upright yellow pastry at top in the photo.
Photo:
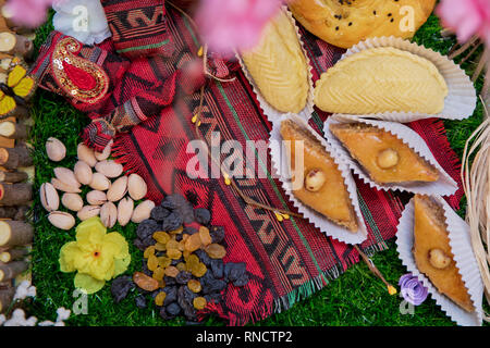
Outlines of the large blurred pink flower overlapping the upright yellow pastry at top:
[[231,54],[258,44],[283,0],[201,0],[196,22],[210,50]]

